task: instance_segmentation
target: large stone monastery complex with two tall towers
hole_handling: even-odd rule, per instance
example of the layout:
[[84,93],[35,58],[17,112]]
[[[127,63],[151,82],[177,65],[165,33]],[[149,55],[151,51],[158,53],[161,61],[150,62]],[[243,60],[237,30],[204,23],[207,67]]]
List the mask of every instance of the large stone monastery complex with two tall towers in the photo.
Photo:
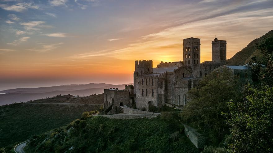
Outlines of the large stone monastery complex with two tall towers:
[[[109,97],[114,91],[105,89],[104,107],[108,108],[110,105],[130,107],[131,102],[136,104],[137,109],[146,110],[149,105],[185,106],[189,100],[187,91],[197,86],[200,78],[226,63],[226,40],[215,38],[212,41],[212,61],[202,63],[200,63],[200,45],[199,38],[183,39],[183,61],[160,62],[156,68],[153,68],[152,60],[135,61],[134,85],[130,90],[120,92],[120,94],[127,93],[126,101],[124,95],[119,97],[119,100],[117,97]],[[224,67],[232,72],[248,70],[248,66]],[[121,99],[122,102],[119,103]]]

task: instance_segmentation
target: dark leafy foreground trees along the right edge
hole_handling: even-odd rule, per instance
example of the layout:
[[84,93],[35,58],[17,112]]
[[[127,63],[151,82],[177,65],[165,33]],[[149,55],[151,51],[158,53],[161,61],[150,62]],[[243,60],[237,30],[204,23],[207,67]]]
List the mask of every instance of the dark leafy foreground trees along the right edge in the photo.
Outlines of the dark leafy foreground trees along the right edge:
[[266,68],[252,59],[256,83],[247,85],[244,100],[231,101],[230,113],[224,113],[231,127],[231,152],[273,152],[273,37],[262,40],[257,49],[266,59]]

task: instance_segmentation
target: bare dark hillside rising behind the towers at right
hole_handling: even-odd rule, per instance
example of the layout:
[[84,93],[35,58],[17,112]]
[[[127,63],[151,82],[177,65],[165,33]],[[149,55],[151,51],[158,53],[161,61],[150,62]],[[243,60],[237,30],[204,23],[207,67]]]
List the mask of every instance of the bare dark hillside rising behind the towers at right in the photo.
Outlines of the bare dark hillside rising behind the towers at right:
[[251,57],[256,56],[258,60],[263,60],[262,54],[258,51],[255,46],[256,43],[259,43],[262,39],[268,36],[273,36],[273,30],[267,32],[265,35],[260,38],[254,39],[251,41],[247,47],[236,53],[233,57],[228,59],[226,65],[244,65],[248,63]]

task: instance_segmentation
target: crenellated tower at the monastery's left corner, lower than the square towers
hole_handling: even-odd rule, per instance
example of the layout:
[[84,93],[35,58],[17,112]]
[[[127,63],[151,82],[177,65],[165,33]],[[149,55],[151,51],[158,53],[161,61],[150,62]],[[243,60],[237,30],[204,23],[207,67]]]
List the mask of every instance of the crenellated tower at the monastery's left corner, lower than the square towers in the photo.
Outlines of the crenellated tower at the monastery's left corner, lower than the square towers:
[[135,61],[135,71],[134,71],[134,93],[136,93],[136,83],[137,77],[141,75],[146,75],[153,73],[153,61]]

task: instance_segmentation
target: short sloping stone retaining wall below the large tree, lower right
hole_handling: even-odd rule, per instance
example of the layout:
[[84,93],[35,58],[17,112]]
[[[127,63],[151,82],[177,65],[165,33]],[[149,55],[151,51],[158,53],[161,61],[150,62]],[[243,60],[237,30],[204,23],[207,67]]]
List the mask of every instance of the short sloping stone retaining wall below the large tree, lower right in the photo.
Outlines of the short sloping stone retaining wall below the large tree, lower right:
[[190,126],[184,125],[185,134],[196,148],[203,148],[206,143],[206,138],[196,132],[196,130]]

